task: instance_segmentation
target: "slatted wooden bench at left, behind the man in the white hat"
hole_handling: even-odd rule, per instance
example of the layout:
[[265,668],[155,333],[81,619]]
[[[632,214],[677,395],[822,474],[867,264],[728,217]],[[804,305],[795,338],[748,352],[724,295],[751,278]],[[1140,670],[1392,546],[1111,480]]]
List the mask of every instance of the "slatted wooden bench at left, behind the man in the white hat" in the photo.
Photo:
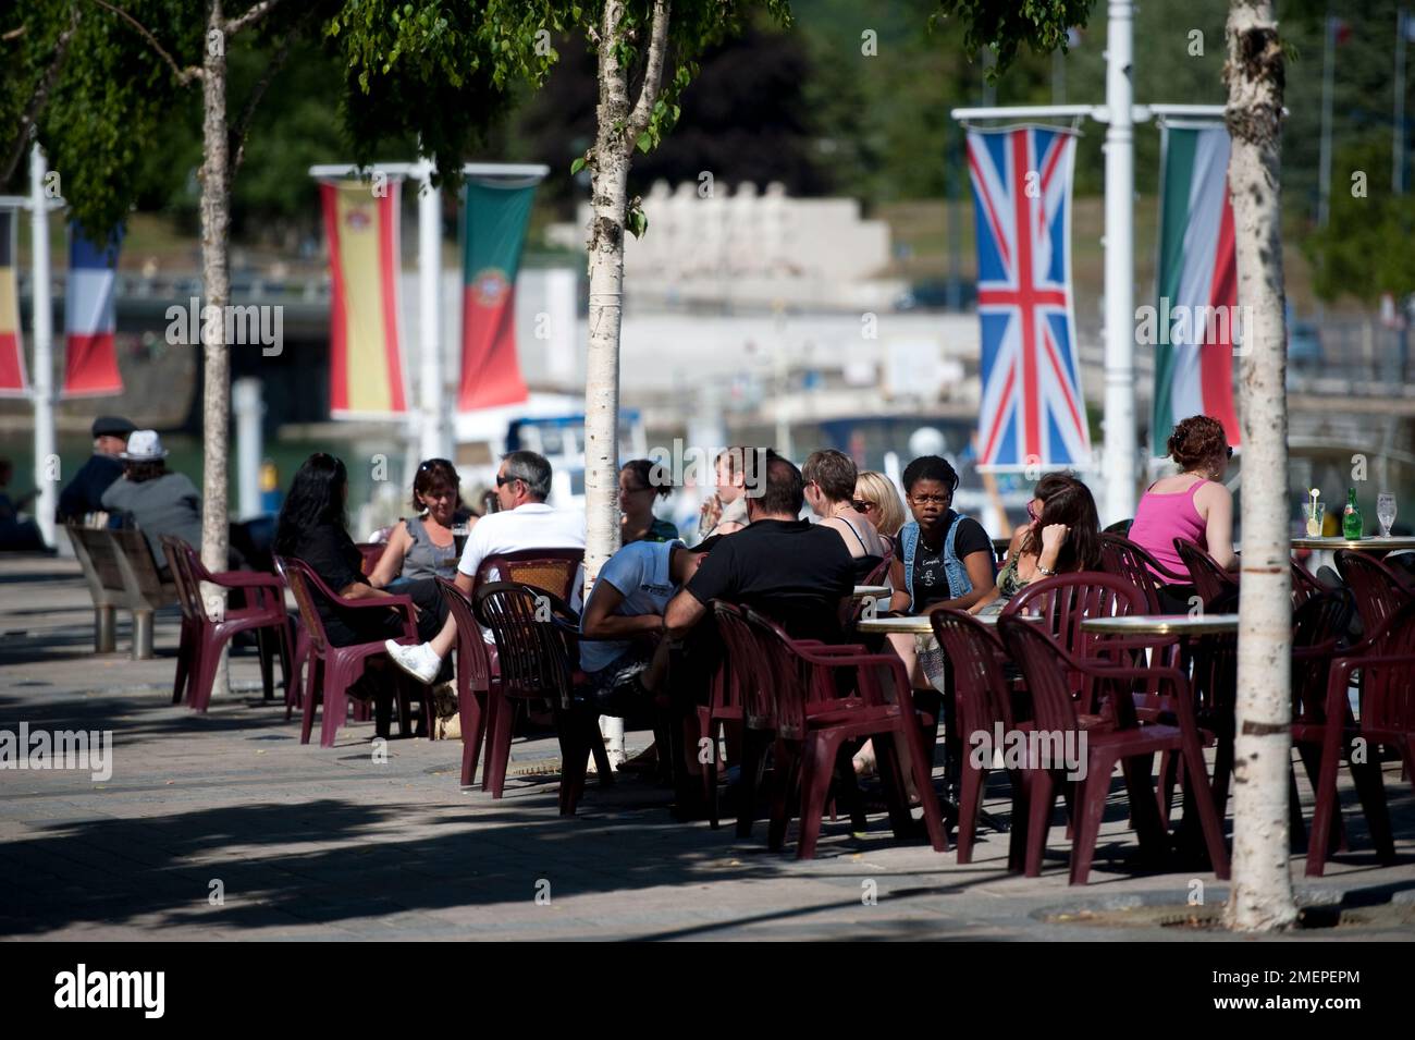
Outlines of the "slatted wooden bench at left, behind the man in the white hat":
[[[95,649],[115,649],[113,608],[133,611],[133,661],[153,657],[153,616],[160,607],[177,606],[177,586],[163,582],[157,562],[142,531],[106,531],[69,526],[74,552],[93,596]],[[88,563],[85,565],[85,556]]]

